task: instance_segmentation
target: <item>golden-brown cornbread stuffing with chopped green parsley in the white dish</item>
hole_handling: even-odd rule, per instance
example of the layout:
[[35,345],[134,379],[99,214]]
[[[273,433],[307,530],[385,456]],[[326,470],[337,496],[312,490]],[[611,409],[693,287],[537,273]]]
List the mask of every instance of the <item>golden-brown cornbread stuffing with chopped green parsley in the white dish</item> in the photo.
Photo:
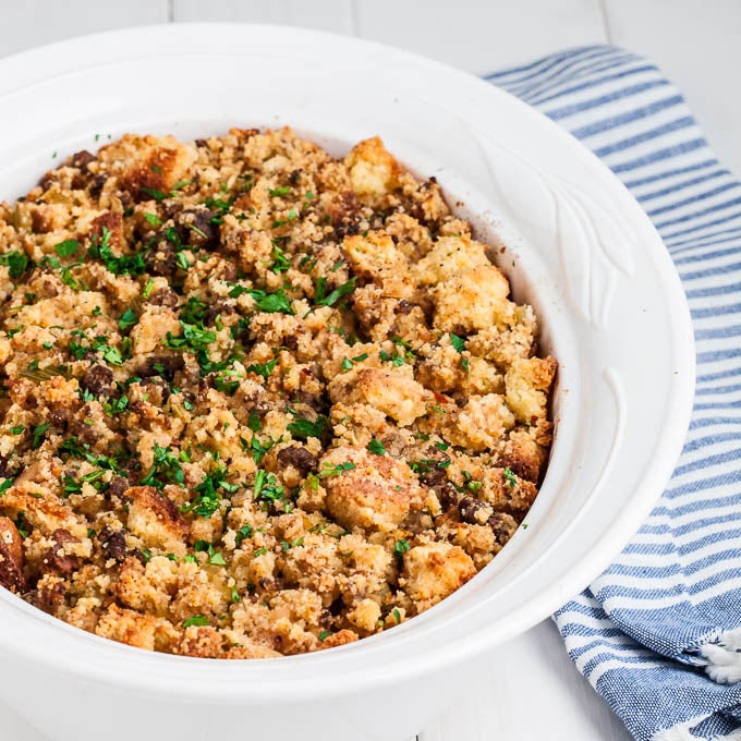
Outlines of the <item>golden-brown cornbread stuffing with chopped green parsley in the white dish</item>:
[[556,362],[378,138],[125,135],[0,204],[0,584],[264,658],[465,584],[537,495]]

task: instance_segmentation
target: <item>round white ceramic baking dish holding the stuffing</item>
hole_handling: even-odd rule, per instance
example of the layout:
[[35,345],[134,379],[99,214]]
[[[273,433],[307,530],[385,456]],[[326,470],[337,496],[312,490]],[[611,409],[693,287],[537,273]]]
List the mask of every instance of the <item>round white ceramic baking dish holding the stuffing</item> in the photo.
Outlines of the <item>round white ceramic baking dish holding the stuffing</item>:
[[[435,175],[532,303],[559,363],[550,466],[526,529],[423,616],[318,654],[217,661],[76,630],[0,591],[2,694],[54,741],[404,741],[583,588],[639,527],[687,432],[689,311],[636,202],[556,124],[475,77],[355,39],[174,25],[0,62],[0,197],[129,131],[290,123],[335,154],[379,134]],[[496,702],[496,699],[493,699]]]

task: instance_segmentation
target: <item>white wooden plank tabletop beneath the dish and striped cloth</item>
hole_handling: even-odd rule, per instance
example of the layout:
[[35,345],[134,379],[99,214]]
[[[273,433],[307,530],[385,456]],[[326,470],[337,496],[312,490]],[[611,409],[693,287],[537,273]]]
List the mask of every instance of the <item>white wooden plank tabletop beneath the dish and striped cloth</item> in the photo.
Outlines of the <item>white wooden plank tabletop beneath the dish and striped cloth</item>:
[[[719,158],[741,173],[741,0],[0,0],[0,54],[110,28],[187,21],[333,31],[477,74],[564,47],[616,44],[664,68],[687,94]],[[550,621],[493,652],[488,682],[421,736],[550,738],[630,738],[571,666]],[[53,739],[42,739],[0,700],[0,741]]]

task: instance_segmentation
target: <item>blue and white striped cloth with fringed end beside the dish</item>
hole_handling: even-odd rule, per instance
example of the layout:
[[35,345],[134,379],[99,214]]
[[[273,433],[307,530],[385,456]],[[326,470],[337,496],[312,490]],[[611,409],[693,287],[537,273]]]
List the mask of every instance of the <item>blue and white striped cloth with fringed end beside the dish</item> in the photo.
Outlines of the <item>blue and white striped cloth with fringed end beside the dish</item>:
[[633,193],[677,266],[696,341],[692,423],[667,489],[554,620],[640,741],[741,738],[741,183],[679,90],[634,53],[572,49],[486,80],[568,129]]

